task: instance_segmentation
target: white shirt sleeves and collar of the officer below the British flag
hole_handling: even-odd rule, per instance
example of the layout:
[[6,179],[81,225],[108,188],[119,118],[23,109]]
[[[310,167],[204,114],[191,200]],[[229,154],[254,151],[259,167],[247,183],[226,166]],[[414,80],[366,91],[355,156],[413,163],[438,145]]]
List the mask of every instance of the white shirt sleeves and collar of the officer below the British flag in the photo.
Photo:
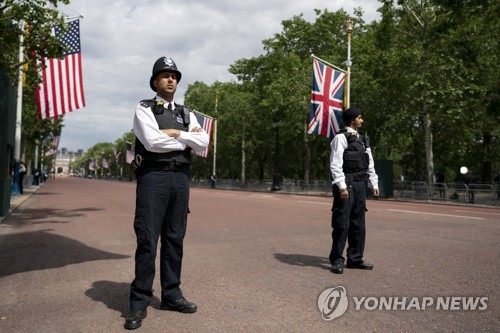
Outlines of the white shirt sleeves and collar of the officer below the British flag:
[[[351,127],[346,127],[347,133],[355,132],[356,136],[359,137],[358,133]],[[330,171],[332,172],[333,182],[332,184],[337,184],[340,189],[346,188],[345,175],[342,170],[342,165],[344,164],[344,150],[347,149],[347,138],[344,134],[339,133],[335,135],[331,142],[331,154],[330,154]],[[366,149],[368,154],[368,176],[370,183],[374,189],[378,189],[378,176],[375,173],[375,164],[373,162],[372,151],[370,148]]]

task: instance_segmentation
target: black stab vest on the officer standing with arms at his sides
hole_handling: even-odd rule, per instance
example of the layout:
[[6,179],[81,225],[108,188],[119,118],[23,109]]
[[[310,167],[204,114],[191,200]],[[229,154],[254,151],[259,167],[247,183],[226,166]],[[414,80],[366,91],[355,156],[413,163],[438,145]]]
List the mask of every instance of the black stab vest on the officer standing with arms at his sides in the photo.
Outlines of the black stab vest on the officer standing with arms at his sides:
[[355,132],[348,133],[346,129],[340,131],[347,139],[347,148],[344,150],[344,164],[342,169],[346,176],[348,175],[366,175],[368,164],[370,162],[366,150],[369,148],[368,137],[359,134],[359,138]]

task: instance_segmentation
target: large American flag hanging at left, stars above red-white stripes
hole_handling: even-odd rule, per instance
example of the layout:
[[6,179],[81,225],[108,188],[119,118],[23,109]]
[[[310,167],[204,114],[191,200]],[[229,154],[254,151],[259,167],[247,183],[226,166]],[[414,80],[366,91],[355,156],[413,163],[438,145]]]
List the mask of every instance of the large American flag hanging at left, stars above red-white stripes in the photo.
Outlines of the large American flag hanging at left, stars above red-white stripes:
[[41,119],[85,107],[80,48],[80,21],[68,23],[68,29],[55,28],[57,41],[64,47],[63,59],[42,58],[42,83],[36,89]]

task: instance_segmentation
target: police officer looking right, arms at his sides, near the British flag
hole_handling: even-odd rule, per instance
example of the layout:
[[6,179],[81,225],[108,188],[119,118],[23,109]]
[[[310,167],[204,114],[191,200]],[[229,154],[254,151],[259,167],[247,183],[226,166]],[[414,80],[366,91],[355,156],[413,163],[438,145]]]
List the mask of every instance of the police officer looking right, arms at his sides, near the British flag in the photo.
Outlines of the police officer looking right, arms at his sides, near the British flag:
[[373,195],[379,196],[378,176],[375,173],[368,137],[358,130],[363,124],[357,107],[342,114],[345,129],[332,140],[330,170],[333,177],[331,271],[344,272],[344,247],[347,248],[347,268],[373,269],[363,261],[365,248],[365,182],[370,181]]

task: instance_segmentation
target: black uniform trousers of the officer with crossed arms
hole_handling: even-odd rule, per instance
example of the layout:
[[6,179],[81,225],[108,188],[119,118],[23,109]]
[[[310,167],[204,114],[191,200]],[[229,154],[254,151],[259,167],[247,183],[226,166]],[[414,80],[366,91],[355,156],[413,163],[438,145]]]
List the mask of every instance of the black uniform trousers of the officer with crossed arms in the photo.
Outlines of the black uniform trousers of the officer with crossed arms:
[[137,250],[135,279],[130,288],[131,310],[145,310],[151,303],[159,239],[161,299],[174,301],[182,297],[179,285],[188,203],[187,170],[146,169],[137,178],[134,219]]

